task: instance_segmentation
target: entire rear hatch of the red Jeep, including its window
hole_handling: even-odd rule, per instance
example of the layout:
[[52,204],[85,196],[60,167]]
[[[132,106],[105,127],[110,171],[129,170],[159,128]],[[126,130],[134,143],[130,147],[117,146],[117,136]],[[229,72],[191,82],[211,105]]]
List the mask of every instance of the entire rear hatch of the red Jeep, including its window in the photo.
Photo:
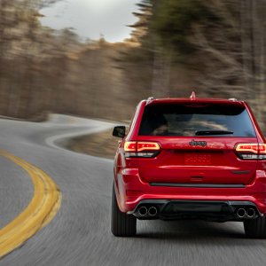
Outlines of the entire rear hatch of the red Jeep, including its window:
[[257,138],[244,104],[168,103],[145,106],[137,137],[157,142],[154,158],[137,158],[143,181],[157,184],[249,184],[257,160],[242,160],[241,143]]

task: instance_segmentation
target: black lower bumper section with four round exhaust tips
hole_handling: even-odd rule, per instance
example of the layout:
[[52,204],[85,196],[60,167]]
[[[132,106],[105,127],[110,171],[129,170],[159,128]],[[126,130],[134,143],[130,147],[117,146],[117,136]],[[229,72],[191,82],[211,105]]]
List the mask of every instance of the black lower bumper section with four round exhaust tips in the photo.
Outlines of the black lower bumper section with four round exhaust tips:
[[141,200],[128,214],[141,220],[201,219],[216,222],[244,221],[262,216],[249,201],[210,200]]

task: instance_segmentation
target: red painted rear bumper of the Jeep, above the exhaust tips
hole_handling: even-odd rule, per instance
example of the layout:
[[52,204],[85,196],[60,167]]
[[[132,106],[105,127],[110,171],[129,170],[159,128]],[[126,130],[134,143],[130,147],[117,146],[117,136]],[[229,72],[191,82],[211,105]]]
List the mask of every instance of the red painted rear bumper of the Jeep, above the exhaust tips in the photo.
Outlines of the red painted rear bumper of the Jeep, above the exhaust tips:
[[266,174],[257,170],[252,184],[228,187],[203,186],[154,186],[145,183],[137,168],[123,169],[115,176],[115,191],[122,212],[132,213],[144,200],[245,201],[253,204],[258,214],[266,214]]

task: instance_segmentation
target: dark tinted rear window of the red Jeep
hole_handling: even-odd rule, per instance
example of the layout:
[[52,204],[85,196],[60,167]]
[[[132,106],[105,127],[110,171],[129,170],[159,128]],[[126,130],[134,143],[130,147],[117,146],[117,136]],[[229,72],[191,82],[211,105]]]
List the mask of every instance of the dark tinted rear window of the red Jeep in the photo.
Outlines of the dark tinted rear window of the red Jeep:
[[146,106],[140,136],[255,137],[246,108],[232,105]]

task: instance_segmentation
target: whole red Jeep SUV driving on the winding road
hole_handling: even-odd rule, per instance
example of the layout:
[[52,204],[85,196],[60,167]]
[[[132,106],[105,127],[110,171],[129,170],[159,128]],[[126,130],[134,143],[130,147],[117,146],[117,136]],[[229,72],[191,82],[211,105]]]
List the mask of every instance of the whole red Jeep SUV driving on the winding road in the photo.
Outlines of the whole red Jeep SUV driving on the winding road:
[[134,236],[137,219],[204,219],[266,238],[266,144],[245,102],[148,98],[113,136],[113,235]]

